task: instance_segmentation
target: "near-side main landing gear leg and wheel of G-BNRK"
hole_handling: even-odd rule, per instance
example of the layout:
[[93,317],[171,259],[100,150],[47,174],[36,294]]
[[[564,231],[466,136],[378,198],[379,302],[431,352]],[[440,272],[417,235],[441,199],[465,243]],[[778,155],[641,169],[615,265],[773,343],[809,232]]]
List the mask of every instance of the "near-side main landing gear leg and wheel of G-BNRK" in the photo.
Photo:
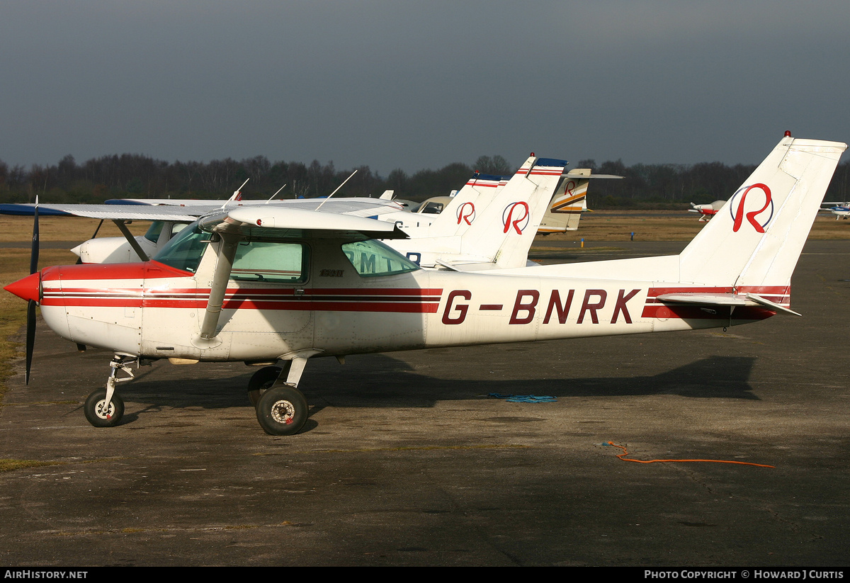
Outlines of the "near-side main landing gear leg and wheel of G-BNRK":
[[294,435],[307,422],[309,405],[303,393],[297,389],[307,358],[292,359],[288,371],[281,370],[277,381],[260,397],[257,420],[265,433]]

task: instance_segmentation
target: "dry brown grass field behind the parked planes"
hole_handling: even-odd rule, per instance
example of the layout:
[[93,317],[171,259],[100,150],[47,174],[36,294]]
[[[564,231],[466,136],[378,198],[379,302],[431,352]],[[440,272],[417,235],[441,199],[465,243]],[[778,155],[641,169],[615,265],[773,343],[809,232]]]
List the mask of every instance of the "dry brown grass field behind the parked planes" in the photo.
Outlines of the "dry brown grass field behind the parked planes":
[[[810,239],[850,239],[850,221],[836,221],[833,215],[822,213],[814,222]],[[558,235],[538,237],[535,247],[545,248],[547,242],[575,241],[579,250],[581,239],[586,242],[629,241],[632,232],[635,241],[690,241],[706,223],[700,223],[693,212],[673,211],[596,211],[587,212],[581,218],[579,230]],[[77,257],[66,249],[48,249],[51,242],[65,242],[70,248],[78,242],[91,238],[99,221],[88,218],[43,217],[39,221],[42,249],[39,267],[75,263]],[[136,235],[143,235],[148,224],[138,222],[130,225]],[[20,280],[29,272],[32,219],[26,217],[0,217],[0,244],[26,243],[22,248],[5,248],[0,261],[0,286]],[[99,230],[99,237],[121,236],[121,232],[110,221]],[[0,293],[0,394],[5,391],[5,381],[12,374],[9,363],[23,349],[20,341],[10,337],[20,336],[26,321],[26,303],[3,291]],[[0,397],[2,405],[2,397]]]

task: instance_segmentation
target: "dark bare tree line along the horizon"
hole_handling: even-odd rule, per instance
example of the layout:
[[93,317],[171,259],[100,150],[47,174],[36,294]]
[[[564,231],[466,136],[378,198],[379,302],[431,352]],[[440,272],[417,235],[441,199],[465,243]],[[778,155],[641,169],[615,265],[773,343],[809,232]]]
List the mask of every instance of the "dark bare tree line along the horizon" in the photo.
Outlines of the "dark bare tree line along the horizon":
[[[622,161],[582,160],[573,167],[589,167],[594,173],[616,174],[623,180],[599,180],[591,184],[588,200],[594,208],[677,207],[682,203],[727,199],[755,166],[721,162],[699,164],[635,164]],[[297,161],[269,161],[254,156],[241,161],[225,158],[209,162],[155,160],[150,156],[122,154],[92,158],[77,164],[65,156],[55,165],[8,167],[0,161],[0,202],[30,202],[39,195],[50,202],[103,202],[110,198],[226,198],[246,178],[246,198],[265,198],[281,186],[280,197],[328,195],[357,171],[341,195],[378,196],[394,190],[399,198],[422,201],[447,195],[466,183],[474,172],[506,175],[512,167],[502,156],[480,156],[472,165],[454,162],[439,170],[413,174],[398,168],[386,177],[368,166],[337,170],[333,162],[309,165]],[[850,162],[840,164],[826,195],[830,201],[847,201]]]

